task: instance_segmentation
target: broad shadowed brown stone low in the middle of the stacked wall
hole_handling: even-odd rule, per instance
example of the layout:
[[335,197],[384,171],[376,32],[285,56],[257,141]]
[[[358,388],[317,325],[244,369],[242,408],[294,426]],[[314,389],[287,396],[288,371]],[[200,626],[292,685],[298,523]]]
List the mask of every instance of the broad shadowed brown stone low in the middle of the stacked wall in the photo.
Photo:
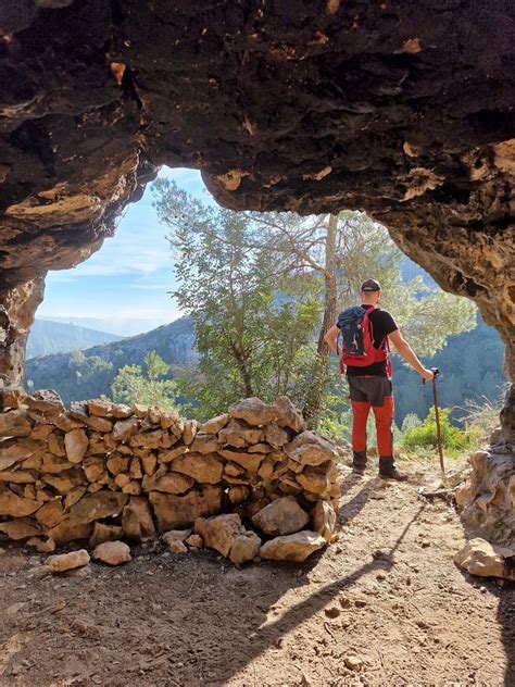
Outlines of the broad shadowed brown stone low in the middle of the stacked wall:
[[206,486],[203,489],[193,489],[185,496],[151,491],[149,501],[158,521],[159,532],[167,532],[188,527],[198,517],[217,513],[222,508],[222,495],[219,487]]

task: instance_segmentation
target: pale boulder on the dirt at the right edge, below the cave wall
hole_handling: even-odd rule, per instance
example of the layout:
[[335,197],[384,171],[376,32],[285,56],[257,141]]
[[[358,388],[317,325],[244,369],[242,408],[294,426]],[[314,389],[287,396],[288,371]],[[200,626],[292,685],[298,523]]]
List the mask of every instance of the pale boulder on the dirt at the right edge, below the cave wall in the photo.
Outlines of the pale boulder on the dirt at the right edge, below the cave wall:
[[489,544],[486,539],[467,541],[454,557],[454,562],[470,575],[515,580],[515,549]]

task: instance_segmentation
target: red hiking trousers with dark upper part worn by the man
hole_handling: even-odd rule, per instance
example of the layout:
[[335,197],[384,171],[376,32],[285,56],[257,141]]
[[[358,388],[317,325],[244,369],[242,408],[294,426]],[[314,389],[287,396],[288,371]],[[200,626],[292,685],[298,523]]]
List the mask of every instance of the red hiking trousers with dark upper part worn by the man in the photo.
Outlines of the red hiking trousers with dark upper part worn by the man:
[[386,377],[349,377],[352,407],[352,449],[366,451],[366,421],[374,413],[377,433],[377,452],[381,457],[393,455],[393,396],[391,382]]

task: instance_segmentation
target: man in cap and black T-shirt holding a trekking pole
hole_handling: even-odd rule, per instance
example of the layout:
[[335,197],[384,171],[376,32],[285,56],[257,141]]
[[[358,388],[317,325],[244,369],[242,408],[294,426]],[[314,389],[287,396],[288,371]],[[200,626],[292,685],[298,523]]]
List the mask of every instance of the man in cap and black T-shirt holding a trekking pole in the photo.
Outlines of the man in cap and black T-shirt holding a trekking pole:
[[[369,334],[369,345],[372,360],[367,364],[366,353],[355,355],[343,354],[346,361],[347,378],[349,380],[351,407],[352,407],[352,450],[353,450],[353,472],[363,475],[366,467],[366,421],[372,408],[376,421],[377,450],[379,453],[379,475],[387,479],[402,482],[407,479],[407,475],[399,472],[393,460],[393,436],[391,424],[393,422],[393,396],[392,385],[389,374],[388,341],[391,341],[395,350],[410,365],[418,372],[423,379],[432,379],[432,372],[426,370],[420,363],[410,344],[402,337],[395,321],[386,310],[378,308],[381,297],[381,287],[375,279],[366,279],[361,287],[361,299],[364,313],[361,314],[360,307],[348,309],[357,311],[361,322],[357,329],[363,329],[366,338]],[[343,311],[334,325],[325,335],[324,339],[329,348],[339,352],[338,337],[341,333],[342,323],[348,311]],[[351,315],[354,313],[351,313]],[[366,329],[366,332],[365,332]],[[363,351],[359,351],[362,352]],[[352,364],[354,362],[354,364]]]

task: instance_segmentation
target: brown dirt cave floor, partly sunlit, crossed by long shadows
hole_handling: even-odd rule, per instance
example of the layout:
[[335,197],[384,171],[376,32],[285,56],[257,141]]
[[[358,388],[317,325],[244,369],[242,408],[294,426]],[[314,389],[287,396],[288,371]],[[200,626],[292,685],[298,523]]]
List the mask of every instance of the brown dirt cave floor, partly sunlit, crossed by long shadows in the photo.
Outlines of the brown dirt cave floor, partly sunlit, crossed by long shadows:
[[3,544],[0,685],[515,685],[515,585],[462,574],[452,508],[343,480],[340,540],[236,570],[139,548],[40,578]]

